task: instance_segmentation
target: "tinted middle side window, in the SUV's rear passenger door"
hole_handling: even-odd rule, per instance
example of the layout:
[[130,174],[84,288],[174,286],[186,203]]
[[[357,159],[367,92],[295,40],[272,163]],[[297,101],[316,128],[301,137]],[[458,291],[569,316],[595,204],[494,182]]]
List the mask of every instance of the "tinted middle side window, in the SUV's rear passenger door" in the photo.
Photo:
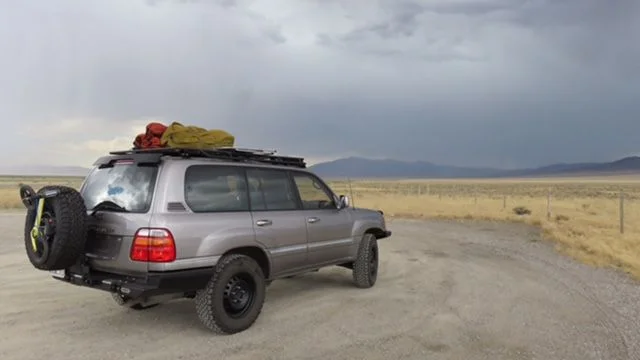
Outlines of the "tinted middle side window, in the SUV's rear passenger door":
[[296,210],[295,192],[285,171],[247,170],[251,210]]

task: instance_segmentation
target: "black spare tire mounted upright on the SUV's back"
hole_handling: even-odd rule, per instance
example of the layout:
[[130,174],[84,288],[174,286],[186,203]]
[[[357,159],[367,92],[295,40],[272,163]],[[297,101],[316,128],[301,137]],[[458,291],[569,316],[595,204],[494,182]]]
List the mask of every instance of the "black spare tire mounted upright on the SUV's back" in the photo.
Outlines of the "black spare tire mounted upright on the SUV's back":
[[44,199],[44,211],[38,224],[41,236],[36,239],[35,250],[31,230],[38,207],[27,207],[25,219],[27,257],[40,270],[62,270],[74,265],[83,255],[87,239],[87,208],[80,193],[68,186],[45,186],[38,194],[51,190],[57,191],[58,195]]

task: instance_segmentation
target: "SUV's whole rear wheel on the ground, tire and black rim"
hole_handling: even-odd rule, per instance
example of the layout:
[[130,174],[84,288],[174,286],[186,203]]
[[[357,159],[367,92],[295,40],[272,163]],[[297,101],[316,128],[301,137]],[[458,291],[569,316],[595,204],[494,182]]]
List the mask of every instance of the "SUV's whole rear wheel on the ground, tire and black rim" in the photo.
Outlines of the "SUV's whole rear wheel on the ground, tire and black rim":
[[226,255],[207,286],[196,293],[200,321],[211,331],[235,334],[251,327],[265,299],[262,268],[246,255]]

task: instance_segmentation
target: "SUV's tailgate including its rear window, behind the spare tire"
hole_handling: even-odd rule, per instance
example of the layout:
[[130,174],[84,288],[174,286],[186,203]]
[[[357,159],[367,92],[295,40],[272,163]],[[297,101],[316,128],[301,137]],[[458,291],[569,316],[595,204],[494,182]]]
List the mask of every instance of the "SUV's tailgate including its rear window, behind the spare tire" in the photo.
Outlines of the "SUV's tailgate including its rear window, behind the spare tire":
[[148,227],[158,166],[131,160],[96,167],[81,193],[90,214],[86,255],[96,270],[144,274],[147,263],[131,261],[136,231]]

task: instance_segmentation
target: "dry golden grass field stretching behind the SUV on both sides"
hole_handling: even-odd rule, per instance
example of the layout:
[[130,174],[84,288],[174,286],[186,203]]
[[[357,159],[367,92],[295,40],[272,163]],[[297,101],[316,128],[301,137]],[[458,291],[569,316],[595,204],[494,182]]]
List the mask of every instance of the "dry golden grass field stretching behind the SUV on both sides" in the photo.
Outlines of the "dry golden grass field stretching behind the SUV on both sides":
[[[0,209],[20,209],[18,184],[77,187],[80,178],[0,177]],[[560,252],[640,279],[640,177],[509,180],[330,181],[356,207],[389,218],[522,221],[541,227]],[[624,233],[620,194],[624,194]],[[530,214],[517,215],[522,207]]]

